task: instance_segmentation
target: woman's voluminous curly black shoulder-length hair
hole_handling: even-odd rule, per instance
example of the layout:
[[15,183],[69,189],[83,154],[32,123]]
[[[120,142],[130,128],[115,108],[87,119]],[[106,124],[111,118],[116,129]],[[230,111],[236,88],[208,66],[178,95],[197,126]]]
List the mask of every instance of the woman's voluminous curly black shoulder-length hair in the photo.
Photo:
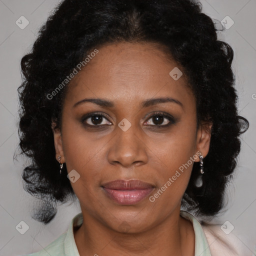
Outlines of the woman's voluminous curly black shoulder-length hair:
[[[24,189],[42,200],[33,218],[48,223],[56,203],[76,198],[59,175],[51,121],[61,128],[67,85],[49,94],[91,49],[112,42],[162,45],[182,67],[196,98],[197,123],[212,122],[210,147],[204,158],[203,185],[196,187],[195,162],[182,205],[195,214],[213,216],[223,207],[223,192],[236,166],[239,135],[248,121],[237,113],[231,69],[233,50],[217,39],[213,20],[192,0],[63,0],[40,28],[30,53],[21,59],[18,88],[21,153],[31,159],[23,169]],[[51,94],[52,95],[52,94]]]

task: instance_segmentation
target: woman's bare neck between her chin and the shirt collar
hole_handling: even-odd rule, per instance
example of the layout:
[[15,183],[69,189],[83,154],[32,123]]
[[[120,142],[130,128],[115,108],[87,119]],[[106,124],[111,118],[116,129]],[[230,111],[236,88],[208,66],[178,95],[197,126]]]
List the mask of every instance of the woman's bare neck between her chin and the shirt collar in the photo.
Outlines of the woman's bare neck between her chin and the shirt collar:
[[194,232],[190,221],[179,216],[179,208],[161,223],[138,233],[121,233],[82,212],[83,221],[74,231],[80,256],[86,255],[194,255]]

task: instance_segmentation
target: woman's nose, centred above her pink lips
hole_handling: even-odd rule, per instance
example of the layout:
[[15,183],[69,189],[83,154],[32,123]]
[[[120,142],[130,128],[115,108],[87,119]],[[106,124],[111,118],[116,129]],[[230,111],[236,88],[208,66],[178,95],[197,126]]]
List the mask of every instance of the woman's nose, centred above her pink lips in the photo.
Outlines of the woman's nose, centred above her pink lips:
[[117,134],[111,139],[107,154],[108,162],[124,167],[139,166],[148,161],[146,145],[141,134],[131,127],[123,131],[117,127]]

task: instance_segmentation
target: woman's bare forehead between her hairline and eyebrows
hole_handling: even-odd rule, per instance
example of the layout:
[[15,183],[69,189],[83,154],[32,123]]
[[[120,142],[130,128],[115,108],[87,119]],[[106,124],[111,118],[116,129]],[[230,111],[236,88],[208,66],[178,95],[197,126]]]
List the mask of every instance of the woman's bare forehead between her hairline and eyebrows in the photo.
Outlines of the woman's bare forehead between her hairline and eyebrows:
[[194,100],[182,67],[152,43],[120,42],[98,48],[68,87],[66,96],[77,101],[85,96],[121,102],[154,96]]

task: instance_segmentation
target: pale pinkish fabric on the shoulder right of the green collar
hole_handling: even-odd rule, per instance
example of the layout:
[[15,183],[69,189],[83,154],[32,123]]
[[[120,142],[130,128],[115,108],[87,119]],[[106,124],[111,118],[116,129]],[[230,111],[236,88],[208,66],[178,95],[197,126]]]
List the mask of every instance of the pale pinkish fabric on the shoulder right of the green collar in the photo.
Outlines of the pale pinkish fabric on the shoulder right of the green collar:
[[220,225],[201,224],[212,256],[249,255],[244,243],[232,232],[224,232]]

